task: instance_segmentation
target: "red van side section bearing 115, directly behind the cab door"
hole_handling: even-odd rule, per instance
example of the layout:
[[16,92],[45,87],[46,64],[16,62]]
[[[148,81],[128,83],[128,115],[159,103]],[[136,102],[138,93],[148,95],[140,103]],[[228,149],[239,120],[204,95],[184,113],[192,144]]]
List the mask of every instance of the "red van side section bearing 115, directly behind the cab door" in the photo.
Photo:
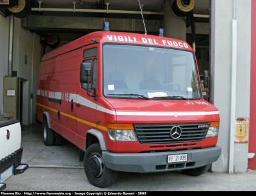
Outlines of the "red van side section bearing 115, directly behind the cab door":
[[56,73],[60,73],[62,81],[60,133],[73,144],[77,144],[75,105],[81,55],[81,49],[77,49],[61,55],[56,62]]

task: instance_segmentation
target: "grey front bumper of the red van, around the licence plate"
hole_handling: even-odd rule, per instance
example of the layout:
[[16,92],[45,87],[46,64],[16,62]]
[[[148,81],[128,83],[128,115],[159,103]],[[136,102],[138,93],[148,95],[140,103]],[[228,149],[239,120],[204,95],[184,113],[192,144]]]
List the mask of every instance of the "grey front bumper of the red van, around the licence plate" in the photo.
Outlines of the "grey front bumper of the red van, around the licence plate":
[[[187,154],[186,162],[167,163],[168,155]],[[106,167],[123,172],[164,172],[201,167],[216,162],[221,155],[221,147],[208,147],[186,151],[168,151],[159,153],[109,153],[103,151]]]

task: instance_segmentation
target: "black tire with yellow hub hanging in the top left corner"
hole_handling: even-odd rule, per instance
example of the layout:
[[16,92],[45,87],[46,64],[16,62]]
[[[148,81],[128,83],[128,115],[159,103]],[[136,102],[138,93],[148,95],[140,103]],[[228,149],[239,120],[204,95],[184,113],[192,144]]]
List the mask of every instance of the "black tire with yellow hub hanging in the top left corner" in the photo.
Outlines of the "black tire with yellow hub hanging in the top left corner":
[[17,6],[8,8],[8,10],[10,13],[12,13],[13,16],[19,19],[25,18],[31,12],[30,0],[19,0],[19,4]]

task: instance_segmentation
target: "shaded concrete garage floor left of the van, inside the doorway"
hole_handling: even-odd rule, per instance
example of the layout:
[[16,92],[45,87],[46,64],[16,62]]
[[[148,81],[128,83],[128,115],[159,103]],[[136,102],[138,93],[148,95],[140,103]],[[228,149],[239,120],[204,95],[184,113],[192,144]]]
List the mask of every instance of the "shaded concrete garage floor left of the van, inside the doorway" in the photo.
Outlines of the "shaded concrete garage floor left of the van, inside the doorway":
[[79,149],[67,140],[62,146],[45,146],[42,124],[24,126],[22,130],[22,163],[29,167],[83,168]]

